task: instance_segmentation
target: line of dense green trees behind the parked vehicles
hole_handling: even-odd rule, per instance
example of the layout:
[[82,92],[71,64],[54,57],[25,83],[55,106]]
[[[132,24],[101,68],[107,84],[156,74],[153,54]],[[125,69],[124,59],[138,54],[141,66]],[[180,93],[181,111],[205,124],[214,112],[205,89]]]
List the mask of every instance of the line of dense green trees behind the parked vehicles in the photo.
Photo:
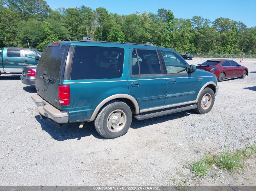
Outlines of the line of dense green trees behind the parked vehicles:
[[149,41],[181,54],[255,54],[256,27],[229,18],[175,18],[165,8],[157,14],[136,11],[119,15],[102,7],[52,10],[43,0],[0,0],[0,47],[28,47],[29,42],[32,48],[44,49],[48,43],[79,36],[113,42]]

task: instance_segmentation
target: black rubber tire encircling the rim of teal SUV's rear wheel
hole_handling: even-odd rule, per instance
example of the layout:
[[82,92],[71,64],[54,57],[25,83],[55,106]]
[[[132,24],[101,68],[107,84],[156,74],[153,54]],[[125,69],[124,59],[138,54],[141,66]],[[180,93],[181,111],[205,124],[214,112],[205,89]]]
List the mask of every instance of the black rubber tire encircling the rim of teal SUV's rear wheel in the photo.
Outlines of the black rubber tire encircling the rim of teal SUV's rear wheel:
[[[108,121],[109,121],[108,117],[110,117],[111,115],[115,115],[115,110],[124,112],[125,117],[126,117],[126,122],[124,124],[122,123],[124,125],[124,127],[120,131],[111,132],[108,129]],[[124,114],[123,114],[123,117],[124,117]],[[112,100],[112,101],[108,102],[105,106],[103,106],[102,109],[99,111],[97,117],[95,118],[94,126],[95,126],[96,131],[102,137],[117,138],[117,137],[120,137],[127,133],[128,129],[131,126],[131,121],[132,121],[132,113],[131,113],[130,107],[122,101]],[[112,124],[112,122],[110,122],[110,123]],[[109,127],[109,128],[112,129],[113,127]],[[114,131],[115,129],[112,129],[112,130]]]

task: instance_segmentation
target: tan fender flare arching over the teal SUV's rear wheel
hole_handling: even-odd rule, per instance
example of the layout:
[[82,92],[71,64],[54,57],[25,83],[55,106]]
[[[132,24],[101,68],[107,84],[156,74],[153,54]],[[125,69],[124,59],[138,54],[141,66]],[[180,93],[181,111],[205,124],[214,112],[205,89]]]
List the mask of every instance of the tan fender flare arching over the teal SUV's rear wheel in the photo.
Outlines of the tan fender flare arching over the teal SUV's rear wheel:
[[108,103],[111,100],[118,99],[118,98],[126,98],[126,99],[130,100],[135,107],[135,114],[140,113],[139,104],[134,97],[132,97],[131,95],[128,95],[128,94],[115,94],[115,95],[111,95],[111,96],[105,98],[103,101],[101,101],[101,103],[98,104],[98,106],[95,108],[94,112],[92,113],[90,121],[93,121],[95,119],[97,113],[99,112],[99,110],[101,109],[101,107],[104,104]]

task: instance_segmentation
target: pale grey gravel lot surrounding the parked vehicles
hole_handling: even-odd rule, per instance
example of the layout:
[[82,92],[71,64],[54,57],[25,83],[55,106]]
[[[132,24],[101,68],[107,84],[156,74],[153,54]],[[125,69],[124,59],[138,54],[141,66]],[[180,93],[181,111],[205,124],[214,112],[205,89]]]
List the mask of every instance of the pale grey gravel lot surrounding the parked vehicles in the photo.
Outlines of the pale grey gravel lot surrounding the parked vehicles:
[[188,166],[220,153],[226,143],[235,150],[256,142],[256,59],[242,65],[248,77],[219,82],[210,113],[133,119],[126,135],[111,140],[98,135],[93,123],[58,128],[40,120],[30,98],[35,88],[19,76],[1,75],[0,185],[256,185],[254,157],[238,172],[216,170],[216,177],[204,179]]

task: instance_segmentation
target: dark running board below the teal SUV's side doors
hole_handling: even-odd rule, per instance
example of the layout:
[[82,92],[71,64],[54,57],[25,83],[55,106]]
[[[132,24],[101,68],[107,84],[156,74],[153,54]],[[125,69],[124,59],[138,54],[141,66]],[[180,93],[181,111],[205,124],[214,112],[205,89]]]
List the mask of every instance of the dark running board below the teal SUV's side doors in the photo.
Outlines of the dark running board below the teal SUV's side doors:
[[152,117],[168,115],[168,114],[171,114],[171,113],[178,113],[178,112],[181,112],[181,111],[193,110],[193,109],[196,109],[196,108],[197,108],[197,105],[194,104],[194,105],[190,105],[190,106],[186,106],[186,107],[180,107],[180,108],[171,109],[171,110],[158,111],[158,112],[155,112],[155,113],[148,113],[148,114],[144,114],[144,115],[140,114],[140,115],[136,115],[134,117],[135,117],[135,119],[138,119],[138,120],[149,119],[149,118],[152,118]]

